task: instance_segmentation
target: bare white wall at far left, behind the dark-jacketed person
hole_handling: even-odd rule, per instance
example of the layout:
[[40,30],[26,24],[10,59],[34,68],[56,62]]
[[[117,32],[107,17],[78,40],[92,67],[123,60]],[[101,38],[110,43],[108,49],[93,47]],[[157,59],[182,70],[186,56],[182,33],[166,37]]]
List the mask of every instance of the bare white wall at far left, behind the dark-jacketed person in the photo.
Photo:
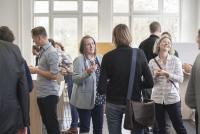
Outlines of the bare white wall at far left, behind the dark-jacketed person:
[[0,0],[0,26],[8,26],[15,35],[22,55],[31,62],[32,0]]

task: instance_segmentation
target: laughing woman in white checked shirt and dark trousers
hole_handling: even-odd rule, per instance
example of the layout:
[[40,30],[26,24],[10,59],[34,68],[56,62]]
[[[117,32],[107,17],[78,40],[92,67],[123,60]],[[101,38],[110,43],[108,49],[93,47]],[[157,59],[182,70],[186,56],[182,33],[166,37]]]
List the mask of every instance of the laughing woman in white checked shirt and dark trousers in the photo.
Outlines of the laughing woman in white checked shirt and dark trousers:
[[171,55],[171,38],[164,36],[158,41],[155,52],[157,57],[151,59],[149,67],[154,78],[151,98],[155,101],[156,121],[159,134],[165,134],[165,111],[177,134],[186,134],[181,115],[179,83],[183,81],[183,71],[180,59]]

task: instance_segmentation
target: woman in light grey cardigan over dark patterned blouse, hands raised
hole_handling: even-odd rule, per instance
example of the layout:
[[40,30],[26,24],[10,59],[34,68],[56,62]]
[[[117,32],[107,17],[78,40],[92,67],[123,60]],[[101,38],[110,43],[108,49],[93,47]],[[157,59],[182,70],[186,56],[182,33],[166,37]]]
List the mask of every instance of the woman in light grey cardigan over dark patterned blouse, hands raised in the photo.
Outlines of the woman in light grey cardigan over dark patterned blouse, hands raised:
[[102,134],[105,96],[96,91],[102,57],[96,55],[96,43],[91,36],[82,38],[80,53],[73,63],[74,85],[70,101],[78,110],[80,134],[89,133],[91,117],[93,133]]

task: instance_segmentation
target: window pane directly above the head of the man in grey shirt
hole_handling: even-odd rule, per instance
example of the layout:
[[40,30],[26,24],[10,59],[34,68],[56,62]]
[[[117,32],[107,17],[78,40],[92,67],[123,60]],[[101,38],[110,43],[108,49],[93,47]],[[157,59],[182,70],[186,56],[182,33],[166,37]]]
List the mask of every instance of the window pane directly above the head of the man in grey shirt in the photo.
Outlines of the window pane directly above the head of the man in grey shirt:
[[34,17],[34,27],[43,26],[49,35],[49,17]]

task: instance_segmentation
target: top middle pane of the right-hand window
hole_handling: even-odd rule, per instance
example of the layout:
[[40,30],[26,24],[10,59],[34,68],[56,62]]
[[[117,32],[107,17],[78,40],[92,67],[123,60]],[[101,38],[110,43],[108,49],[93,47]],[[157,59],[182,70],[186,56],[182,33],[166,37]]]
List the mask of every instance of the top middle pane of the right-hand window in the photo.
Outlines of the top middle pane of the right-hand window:
[[158,11],[158,0],[134,0],[134,11]]

